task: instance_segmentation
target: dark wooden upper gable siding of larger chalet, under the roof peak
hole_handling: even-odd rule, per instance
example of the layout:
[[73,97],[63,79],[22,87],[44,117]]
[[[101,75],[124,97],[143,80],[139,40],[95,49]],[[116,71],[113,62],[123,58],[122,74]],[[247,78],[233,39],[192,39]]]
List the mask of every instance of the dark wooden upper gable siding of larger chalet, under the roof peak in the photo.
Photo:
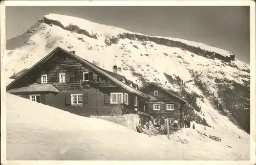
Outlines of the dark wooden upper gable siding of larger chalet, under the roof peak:
[[[53,84],[58,90],[71,90],[80,88],[80,80],[82,80],[82,73],[90,73],[90,81],[81,81],[82,87],[90,87],[100,83],[103,86],[117,86],[105,76],[94,72],[89,66],[82,64],[73,57],[68,56],[64,52],[57,52],[44,64],[34,68],[30,73],[19,79],[14,85],[8,88],[19,88],[34,83],[41,83],[41,75],[47,75],[47,83]],[[66,73],[65,83],[59,83],[59,74]],[[98,81],[100,77],[100,82]]]

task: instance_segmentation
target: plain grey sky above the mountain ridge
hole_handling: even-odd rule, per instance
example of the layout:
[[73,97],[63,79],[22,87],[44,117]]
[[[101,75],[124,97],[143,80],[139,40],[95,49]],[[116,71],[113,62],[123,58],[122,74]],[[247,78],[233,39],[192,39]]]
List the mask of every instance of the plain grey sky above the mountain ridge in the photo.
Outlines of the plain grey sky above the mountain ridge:
[[6,37],[26,32],[45,14],[88,19],[147,35],[202,42],[249,62],[249,7],[6,7]]

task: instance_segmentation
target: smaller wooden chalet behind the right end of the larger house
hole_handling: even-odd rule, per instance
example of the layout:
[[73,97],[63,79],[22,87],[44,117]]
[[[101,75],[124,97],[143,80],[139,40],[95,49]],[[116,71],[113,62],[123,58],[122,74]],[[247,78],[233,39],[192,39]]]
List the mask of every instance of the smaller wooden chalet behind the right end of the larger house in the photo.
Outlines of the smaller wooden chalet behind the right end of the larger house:
[[[176,119],[180,127],[184,127],[184,105],[187,103],[183,98],[151,82],[140,89],[142,92],[150,95],[149,99],[139,103],[139,119],[141,125],[144,125],[148,119],[153,124],[164,124],[167,119],[173,124]],[[153,119],[152,119],[153,118]]]

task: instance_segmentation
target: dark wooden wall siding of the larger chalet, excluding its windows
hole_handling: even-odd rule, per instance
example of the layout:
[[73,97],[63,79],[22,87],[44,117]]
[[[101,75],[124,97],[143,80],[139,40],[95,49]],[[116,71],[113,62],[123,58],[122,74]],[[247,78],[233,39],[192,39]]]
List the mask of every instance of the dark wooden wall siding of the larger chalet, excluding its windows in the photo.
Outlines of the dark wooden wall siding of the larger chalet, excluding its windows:
[[[82,73],[89,72],[90,81],[82,82]],[[59,82],[59,74],[65,73],[69,75],[66,77],[65,83]],[[125,92],[124,89],[118,87],[116,83],[110,81],[105,76],[94,72],[93,69],[87,65],[82,64],[66,53],[57,52],[54,56],[48,59],[45,63],[31,70],[31,72],[15,83],[16,86],[11,88],[18,88],[34,83],[41,83],[41,75],[47,75],[47,83],[53,84],[58,90],[57,95],[49,93],[41,96],[44,104],[56,107],[62,110],[70,111],[79,115],[122,115],[123,109],[134,111],[133,105],[134,95],[129,93],[130,104],[106,104],[105,96],[110,95],[110,92]],[[81,82],[81,83],[80,83]],[[101,84],[102,86],[95,86],[94,84]],[[87,94],[87,104],[82,106],[73,106],[71,104],[71,94]],[[37,93],[34,93],[37,94]],[[23,96],[29,99],[28,93]],[[84,95],[83,95],[84,96]],[[140,98],[138,97],[138,100]],[[67,103],[67,101],[69,103]]]

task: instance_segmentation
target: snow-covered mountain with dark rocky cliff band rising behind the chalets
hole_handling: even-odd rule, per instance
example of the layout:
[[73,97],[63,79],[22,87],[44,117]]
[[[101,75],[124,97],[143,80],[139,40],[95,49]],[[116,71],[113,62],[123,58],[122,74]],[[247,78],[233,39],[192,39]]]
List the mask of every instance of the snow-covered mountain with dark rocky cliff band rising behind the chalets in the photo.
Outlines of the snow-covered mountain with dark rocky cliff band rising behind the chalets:
[[[142,35],[65,15],[45,15],[26,33],[7,41],[7,76],[31,67],[56,46],[75,51],[76,55],[104,69],[112,70],[116,64],[118,74],[139,86],[154,81],[183,97],[196,93],[196,100],[191,99],[190,104],[202,109],[205,114],[199,115],[211,126],[222,120],[216,107],[211,107],[211,101],[220,104],[219,98],[225,101],[223,109],[231,111],[238,107],[236,112],[231,111],[233,115],[243,111],[245,117],[249,113],[246,101],[249,100],[250,66],[234,59],[231,52],[177,38]],[[208,56],[215,53],[216,58],[202,56],[205,51]],[[228,100],[229,96],[236,95],[239,98]]]

